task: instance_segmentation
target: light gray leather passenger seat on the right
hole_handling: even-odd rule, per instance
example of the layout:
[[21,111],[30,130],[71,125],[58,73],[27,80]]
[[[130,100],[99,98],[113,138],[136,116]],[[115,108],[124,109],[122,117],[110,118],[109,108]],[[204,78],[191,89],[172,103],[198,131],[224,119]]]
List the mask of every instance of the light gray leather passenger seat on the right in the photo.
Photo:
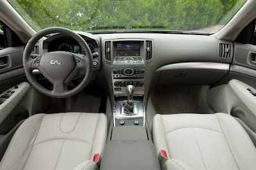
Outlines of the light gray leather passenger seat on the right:
[[225,113],[156,115],[157,153],[162,169],[256,169],[256,149],[236,119]]

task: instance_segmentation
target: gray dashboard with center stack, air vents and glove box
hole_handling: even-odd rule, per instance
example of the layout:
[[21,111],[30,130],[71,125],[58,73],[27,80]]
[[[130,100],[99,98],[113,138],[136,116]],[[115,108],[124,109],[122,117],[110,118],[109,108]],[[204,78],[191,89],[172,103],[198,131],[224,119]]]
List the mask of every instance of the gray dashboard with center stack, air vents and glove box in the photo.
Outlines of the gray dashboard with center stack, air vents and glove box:
[[[233,58],[231,41],[214,36],[186,34],[77,32],[86,40],[93,57],[93,80],[99,76],[114,96],[145,96],[156,87],[175,84],[212,85],[229,70]],[[40,41],[43,53],[65,51],[84,54],[75,39],[54,34]],[[223,46],[227,49],[224,49]],[[226,50],[228,57],[223,57]],[[86,55],[86,54],[85,54]]]

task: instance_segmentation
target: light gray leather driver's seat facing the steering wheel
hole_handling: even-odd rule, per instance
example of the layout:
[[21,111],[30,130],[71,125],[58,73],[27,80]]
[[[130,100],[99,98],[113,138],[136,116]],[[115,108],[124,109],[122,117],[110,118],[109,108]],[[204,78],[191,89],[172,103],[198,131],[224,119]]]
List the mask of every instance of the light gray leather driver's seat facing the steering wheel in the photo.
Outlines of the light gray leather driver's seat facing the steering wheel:
[[56,113],[29,117],[12,138],[0,169],[98,169],[107,119],[102,113]]

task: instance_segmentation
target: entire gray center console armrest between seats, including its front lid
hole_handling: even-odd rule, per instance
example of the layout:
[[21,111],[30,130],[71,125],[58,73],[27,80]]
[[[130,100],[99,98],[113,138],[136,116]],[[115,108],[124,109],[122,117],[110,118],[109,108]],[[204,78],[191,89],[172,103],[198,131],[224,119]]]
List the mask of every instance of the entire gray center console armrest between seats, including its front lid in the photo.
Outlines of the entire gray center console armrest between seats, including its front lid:
[[160,170],[156,149],[143,126],[113,127],[100,170]]

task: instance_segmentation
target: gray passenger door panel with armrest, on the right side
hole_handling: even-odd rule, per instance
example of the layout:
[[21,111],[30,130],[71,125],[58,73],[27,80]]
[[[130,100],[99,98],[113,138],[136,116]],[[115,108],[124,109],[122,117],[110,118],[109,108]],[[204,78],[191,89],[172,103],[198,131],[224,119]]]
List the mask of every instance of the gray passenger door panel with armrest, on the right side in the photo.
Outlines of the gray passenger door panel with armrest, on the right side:
[[[232,79],[242,81],[244,87],[237,86]],[[230,71],[209,91],[209,100],[212,105],[215,104],[216,109],[220,108],[224,113],[236,118],[256,146],[256,96],[253,96],[255,93],[256,46],[234,43],[234,58]]]

